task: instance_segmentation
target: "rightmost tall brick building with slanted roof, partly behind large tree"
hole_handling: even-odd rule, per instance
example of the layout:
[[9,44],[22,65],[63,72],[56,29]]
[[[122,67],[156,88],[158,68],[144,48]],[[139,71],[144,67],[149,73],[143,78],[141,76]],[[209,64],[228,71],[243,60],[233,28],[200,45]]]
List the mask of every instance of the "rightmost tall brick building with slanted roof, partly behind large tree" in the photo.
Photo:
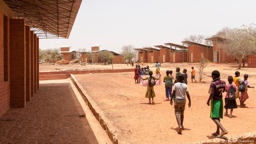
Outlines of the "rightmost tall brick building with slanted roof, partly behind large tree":
[[225,51],[218,46],[218,42],[225,41],[225,38],[221,37],[212,37],[212,38],[206,38],[206,41],[212,41],[213,42],[213,54],[212,59],[213,62],[235,62],[234,56],[227,56]]

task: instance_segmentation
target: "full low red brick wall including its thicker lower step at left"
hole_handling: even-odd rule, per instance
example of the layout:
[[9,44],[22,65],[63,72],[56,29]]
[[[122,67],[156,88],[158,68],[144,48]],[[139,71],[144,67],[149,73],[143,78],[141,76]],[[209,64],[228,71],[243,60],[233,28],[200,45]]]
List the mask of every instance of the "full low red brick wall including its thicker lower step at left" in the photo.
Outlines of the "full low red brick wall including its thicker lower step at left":
[[[133,69],[92,69],[92,70],[74,70],[74,71],[55,71],[55,72],[39,72],[39,80],[57,80],[67,79],[71,74],[88,74],[88,73],[118,73],[133,72]],[[58,76],[60,75],[60,76]],[[66,78],[64,78],[67,75]]]

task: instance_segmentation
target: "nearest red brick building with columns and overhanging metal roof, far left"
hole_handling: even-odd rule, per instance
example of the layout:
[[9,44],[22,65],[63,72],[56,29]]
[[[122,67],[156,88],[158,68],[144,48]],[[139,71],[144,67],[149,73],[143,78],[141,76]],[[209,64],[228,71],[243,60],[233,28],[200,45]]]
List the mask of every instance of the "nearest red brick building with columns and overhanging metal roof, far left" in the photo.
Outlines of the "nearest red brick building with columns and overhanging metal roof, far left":
[[39,38],[68,38],[81,2],[0,0],[0,116],[40,92]]

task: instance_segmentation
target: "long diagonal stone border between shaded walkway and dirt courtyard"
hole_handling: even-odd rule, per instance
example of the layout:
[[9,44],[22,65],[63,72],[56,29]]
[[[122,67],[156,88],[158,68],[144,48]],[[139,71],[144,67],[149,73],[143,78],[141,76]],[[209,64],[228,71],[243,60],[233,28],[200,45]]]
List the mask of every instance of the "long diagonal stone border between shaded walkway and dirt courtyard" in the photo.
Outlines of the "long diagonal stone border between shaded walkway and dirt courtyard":
[[105,116],[103,111],[98,107],[98,105],[93,101],[93,99],[90,98],[90,96],[86,93],[84,88],[81,86],[81,84],[76,80],[75,76],[73,74],[70,74],[70,79],[74,83],[75,87],[79,91],[79,93],[82,95],[84,101],[89,106],[91,112],[96,117],[96,119],[101,124],[102,128],[106,130],[106,133],[109,136],[109,139],[112,141],[113,144],[118,144],[117,140],[117,128],[112,125],[110,120]]

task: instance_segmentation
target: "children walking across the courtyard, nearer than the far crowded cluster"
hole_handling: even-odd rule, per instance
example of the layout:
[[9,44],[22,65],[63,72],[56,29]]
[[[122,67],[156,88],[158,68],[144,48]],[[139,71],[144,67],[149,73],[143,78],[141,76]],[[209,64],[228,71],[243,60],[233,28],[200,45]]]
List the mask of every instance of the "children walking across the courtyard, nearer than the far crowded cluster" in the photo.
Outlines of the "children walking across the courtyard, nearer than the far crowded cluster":
[[[160,71],[158,71],[158,74]],[[148,80],[148,87],[146,92],[146,98],[149,99],[149,103],[151,104],[151,98],[152,98],[152,104],[154,104],[154,83],[155,80],[158,80],[161,78],[161,75],[159,74],[158,77],[153,77],[153,72],[148,72],[149,77],[142,78],[142,80]],[[227,78],[227,81],[229,82],[226,84],[224,80],[221,80],[219,71],[212,71],[211,77],[212,82],[210,84],[209,88],[209,98],[207,100],[207,105],[211,106],[211,113],[210,118],[214,121],[214,123],[217,125],[216,132],[212,133],[213,136],[216,136],[218,138],[225,138],[223,135],[227,134],[227,130],[223,127],[223,125],[220,122],[220,118],[223,118],[223,107],[226,109],[225,115],[228,114],[227,110],[230,109],[230,115],[229,117],[232,117],[233,109],[237,108],[236,99],[239,98],[240,100],[240,107],[245,107],[245,101],[249,98],[247,90],[248,88],[254,88],[250,85],[248,80],[248,74],[244,75],[244,79],[241,80],[239,78],[240,72],[235,72],[235,77],[229,76]],[[173,105],[174,103],[174,110],[176,115],[176,120],[178,123],[178,133],[181,133],[182,130],[184,130],[183,126],[183,120],[184,120],[184,110],[186,105],[186,98],[187,95],[188,98],[188,107],[191,106],[191,99],[188,92],[188,86],[187,86],[187,69],[183,70],[183,74],[180,72],[180,68],[176,68],[176,77],[172,75],[172,71],[167,70],[166,76],[163,77],[163,82],[165,83],[165,92],[166,92],[166,99],[169,101],[170,97],[170,105]],[[173,82],[174,80],[174,82]],[[195,70],[192,67],[191,71],[191,80],[195,80]],[[195,80],[196,82],[196,80]],[[233,83],[234,82],[234,83]],[[173,92],[172,92],[173,91]],[[225,95],[225,105],[223,106],[223,99],[222,99],[222,93],[226,92]],[[241,94],[240,94],[241,92]],[[174,100],[174,102],[173,102]],[[220,132],[221,129],[221,132]]]

